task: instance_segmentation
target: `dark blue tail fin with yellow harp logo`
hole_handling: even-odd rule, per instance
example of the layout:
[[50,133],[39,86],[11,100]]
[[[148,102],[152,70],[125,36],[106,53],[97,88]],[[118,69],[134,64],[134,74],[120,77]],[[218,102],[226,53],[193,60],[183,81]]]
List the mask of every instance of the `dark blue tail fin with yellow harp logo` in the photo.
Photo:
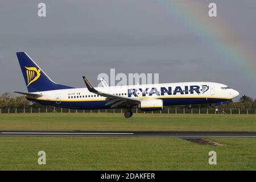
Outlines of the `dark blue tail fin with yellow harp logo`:
[[26,52],[16,52],[22,69],[23,77],[27,85],[28,92],[42,92],[47,90],[71,89],[70,86],[56,84],[46,73],[26,54]]

